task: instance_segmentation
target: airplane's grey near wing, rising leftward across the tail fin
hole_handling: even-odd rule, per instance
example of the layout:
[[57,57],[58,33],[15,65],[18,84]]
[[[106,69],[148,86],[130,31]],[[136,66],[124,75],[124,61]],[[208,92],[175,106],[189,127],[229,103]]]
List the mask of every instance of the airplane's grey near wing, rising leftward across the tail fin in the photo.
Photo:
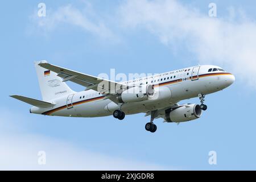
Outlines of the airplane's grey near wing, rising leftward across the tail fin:
[[76,84],[85,86],[85,90],[93,89],[102,94],[115,94],[118,88],[127,87],[126,85],[118,82],[90,76],[84,73],[72,71],[71,69],[58,67],[49,63],[40,63],[39,65],[40,67],[49,69],[50,71],[57,73],[57,76],[63,78],[63,81],[72,81]]

